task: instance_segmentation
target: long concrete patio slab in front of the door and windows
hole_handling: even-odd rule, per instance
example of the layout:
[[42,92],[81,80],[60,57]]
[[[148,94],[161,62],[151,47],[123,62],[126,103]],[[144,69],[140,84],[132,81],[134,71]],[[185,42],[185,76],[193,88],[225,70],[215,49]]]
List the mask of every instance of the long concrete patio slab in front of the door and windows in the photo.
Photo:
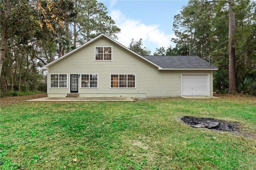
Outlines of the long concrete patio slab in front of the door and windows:
[[46,97],[27,100],[27,102],[134,102],[131,97],[101,97],[101,98],[87,98],[87,97],[78,97],[78,98],[65,98],[65,97]]

